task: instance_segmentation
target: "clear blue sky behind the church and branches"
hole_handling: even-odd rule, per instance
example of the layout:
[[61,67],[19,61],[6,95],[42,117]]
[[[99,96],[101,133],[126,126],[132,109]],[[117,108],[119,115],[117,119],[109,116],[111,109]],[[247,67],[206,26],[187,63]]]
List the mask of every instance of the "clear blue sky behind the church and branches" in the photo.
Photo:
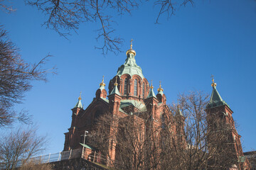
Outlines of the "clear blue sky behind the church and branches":
[[38,62],[50,52],[54,57],[46,67],[58,67],[58,75],[50,75],[48,83],[33,81],[26,100],[17,106],[28,109],[39,133],[50,137],[46,153],[63,150],[63,133],[70,128],[70,109],[80,91],[87,107],[102,75],[108,86],[124,63],[131,38],[144,77],[153,80],[155,93],[162,82],[168,103],[184,91],[210,94],[210,75],[214,74],[220,95],[240,125],[244,152],[256,149],[256,1],[196,1],[193,7],[179,8],[169,20],[162,17],[159,25],[154,24],[159,8],[147,2],[132,16],[116,18],[116,35],[125,40],[124,52],[106,57],[94,48],[98,23],[82,24],[78,34],[66,40],[41,27],[44,16],[36,8],[18,0],[14,7],[14,13],[0,12],[1,24],[21,49],[23,59]]

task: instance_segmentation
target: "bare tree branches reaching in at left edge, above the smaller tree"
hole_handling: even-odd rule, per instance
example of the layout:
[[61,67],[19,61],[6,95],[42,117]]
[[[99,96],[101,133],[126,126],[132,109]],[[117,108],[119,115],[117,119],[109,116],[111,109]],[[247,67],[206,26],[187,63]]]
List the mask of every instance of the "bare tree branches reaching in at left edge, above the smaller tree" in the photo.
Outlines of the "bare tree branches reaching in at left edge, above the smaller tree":
[[31,81],[46,81],[48,73],[55,74],[55,67],[44,69],[43,64],[50,55],[40,62],[30,64],[23,61],[18,49],[6,35],[6,30],[0,27],[0,127],[7,127],[19,120],[29,123],[31,116],[26,111],[17,113],[14,105],[23,101],[24,93],[29,91]]

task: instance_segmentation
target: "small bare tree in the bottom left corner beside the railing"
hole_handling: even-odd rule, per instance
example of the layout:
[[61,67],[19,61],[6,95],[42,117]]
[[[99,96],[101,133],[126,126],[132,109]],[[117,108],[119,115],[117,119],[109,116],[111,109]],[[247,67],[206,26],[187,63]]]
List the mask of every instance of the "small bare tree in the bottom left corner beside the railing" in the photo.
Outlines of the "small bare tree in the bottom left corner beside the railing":
[[36,135],[35,126],[29,126],[26,130],[18,128],[8,135],[1,136],[0,163],[6,169],[15,169],[19,161],[26,164],[29,158],[45,150],[46,136]]

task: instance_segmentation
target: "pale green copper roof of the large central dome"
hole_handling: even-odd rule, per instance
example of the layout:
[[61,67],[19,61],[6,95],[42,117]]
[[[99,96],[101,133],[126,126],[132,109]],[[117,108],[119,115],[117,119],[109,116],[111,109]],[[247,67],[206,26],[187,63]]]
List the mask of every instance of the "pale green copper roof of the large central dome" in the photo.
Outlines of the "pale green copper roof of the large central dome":
[[144,76],[142,74],[142,68],[136,64],[134,54],[132,54],[132,53],[127,54],[127,59],[125,60],[124,64],[122,64],[122,66],[120,66],[117,69],[117,76],[120,77],[123,74],[129,74],[131,77],[134,74],[137,74],[142,79],[144,78]]

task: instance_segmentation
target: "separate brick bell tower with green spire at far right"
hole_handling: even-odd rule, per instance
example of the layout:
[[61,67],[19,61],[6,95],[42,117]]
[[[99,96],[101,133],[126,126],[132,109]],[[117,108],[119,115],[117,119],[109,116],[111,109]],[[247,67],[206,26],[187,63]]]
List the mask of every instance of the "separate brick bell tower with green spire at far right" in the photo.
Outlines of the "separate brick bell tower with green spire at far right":
[[[214,140],[220,141],[220,139],[218,139],[218,137],[222,137],[220,133],[225,132],[226,140],[222,143],[222,146],[218,147],[216,155],[225,158],[229,157],[231,159],[233,157],[233,161],[231,161],[234,162],[233,164],[238,166],[238,169],[250,169],[249,162],[244,157],[242,152],[242,145],[240,141],[241,136],[235,129],[233,111],[231,110],[230,106],[223,101],[223,98],[221,98],[220,94],[218,93],[216,89],[217,84],[214,82],[214,79],[212,79],[212,81],[213,83],[211,86],[213,87],[213,91],[210,96],[210,101],[206,106],[208,132],[209,134],[219,135],[216,135],[215,139],[213,139],[213,137],[208,137],[209,146],[213,147]],[[225,149],[228,152],[223,152]]]

